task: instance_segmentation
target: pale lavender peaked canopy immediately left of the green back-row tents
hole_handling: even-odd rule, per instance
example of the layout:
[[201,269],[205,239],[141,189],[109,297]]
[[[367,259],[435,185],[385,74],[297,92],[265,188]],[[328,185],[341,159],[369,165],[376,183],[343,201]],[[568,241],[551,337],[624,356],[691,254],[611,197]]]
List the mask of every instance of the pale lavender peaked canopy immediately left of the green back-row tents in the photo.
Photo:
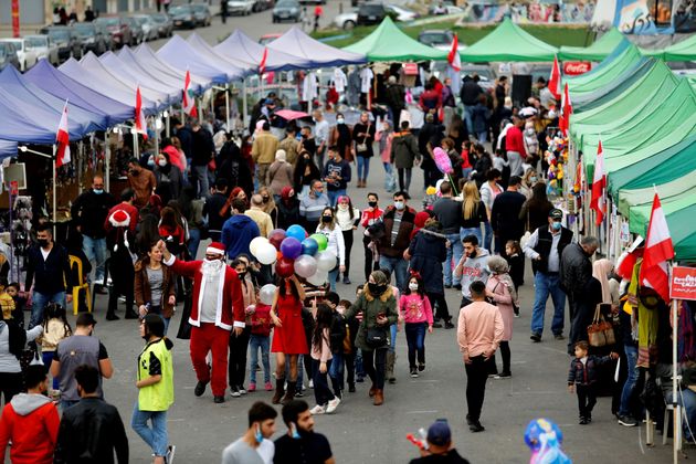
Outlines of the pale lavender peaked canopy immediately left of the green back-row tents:
[[336,49],[310,38],[296,25],[268,44],[268,49],[292,53],[307,62],[308,67],[344,66],[367,62],[363,53]]

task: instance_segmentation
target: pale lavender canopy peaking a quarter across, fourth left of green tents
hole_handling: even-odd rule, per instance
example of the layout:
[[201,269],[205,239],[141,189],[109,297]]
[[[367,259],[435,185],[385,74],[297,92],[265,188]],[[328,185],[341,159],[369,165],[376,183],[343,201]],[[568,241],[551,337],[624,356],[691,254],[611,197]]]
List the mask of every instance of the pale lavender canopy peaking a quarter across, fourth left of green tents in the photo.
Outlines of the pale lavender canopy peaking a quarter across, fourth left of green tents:
[[196,50],[179,35],[172,36],[161,49],[157,51],[159,56],[167,64],[183,72],[189,70],[192,73],[210,78],[215,84],[226,84],[235,77],[242,76],[242,71],[226,65],[220,66],[209,62],[204,56],[200,56]]

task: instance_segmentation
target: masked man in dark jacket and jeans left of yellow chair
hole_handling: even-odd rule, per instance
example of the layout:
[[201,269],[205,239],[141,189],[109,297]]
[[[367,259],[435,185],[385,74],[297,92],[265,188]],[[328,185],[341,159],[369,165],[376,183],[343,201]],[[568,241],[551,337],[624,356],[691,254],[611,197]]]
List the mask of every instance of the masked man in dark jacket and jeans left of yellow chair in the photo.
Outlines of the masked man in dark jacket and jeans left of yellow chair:
[[29,292],[32,283],[34,284],[29,328],[43,321],[43,308],[48,303],[57,303],[65,307],[66,303],[73,300],[70,259],[65,249],[53,242],[50,224],[36,226],[36,240],[39,243],[32,245],[27,253],[24,291]]

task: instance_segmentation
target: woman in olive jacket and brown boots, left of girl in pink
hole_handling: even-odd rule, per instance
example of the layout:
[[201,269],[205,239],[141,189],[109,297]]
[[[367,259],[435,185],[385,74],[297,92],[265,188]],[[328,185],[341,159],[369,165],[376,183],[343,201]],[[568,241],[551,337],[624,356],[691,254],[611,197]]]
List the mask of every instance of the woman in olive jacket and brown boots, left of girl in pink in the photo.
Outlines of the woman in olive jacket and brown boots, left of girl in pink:
[[372,380],[369,394],[375,405],[384,402],[384,372],[389,349],[389,327],[397,324],[397,299],[387,276],[381,271],[370,274],[356,304],[346,310],[346,319],[362,315],[356,346],[362,351],[362,366]]

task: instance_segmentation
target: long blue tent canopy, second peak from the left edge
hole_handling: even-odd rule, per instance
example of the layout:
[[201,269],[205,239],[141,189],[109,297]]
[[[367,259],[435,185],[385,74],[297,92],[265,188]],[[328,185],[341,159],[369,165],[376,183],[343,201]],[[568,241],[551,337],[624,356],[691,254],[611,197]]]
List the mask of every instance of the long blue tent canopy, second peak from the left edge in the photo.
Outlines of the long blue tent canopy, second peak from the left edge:
[[80,84],[57,71],[48,60],[40,60],[24,74],[24,78],[48,93],[106,117],[108,127],[131,119],[133,106],[124,105]]

